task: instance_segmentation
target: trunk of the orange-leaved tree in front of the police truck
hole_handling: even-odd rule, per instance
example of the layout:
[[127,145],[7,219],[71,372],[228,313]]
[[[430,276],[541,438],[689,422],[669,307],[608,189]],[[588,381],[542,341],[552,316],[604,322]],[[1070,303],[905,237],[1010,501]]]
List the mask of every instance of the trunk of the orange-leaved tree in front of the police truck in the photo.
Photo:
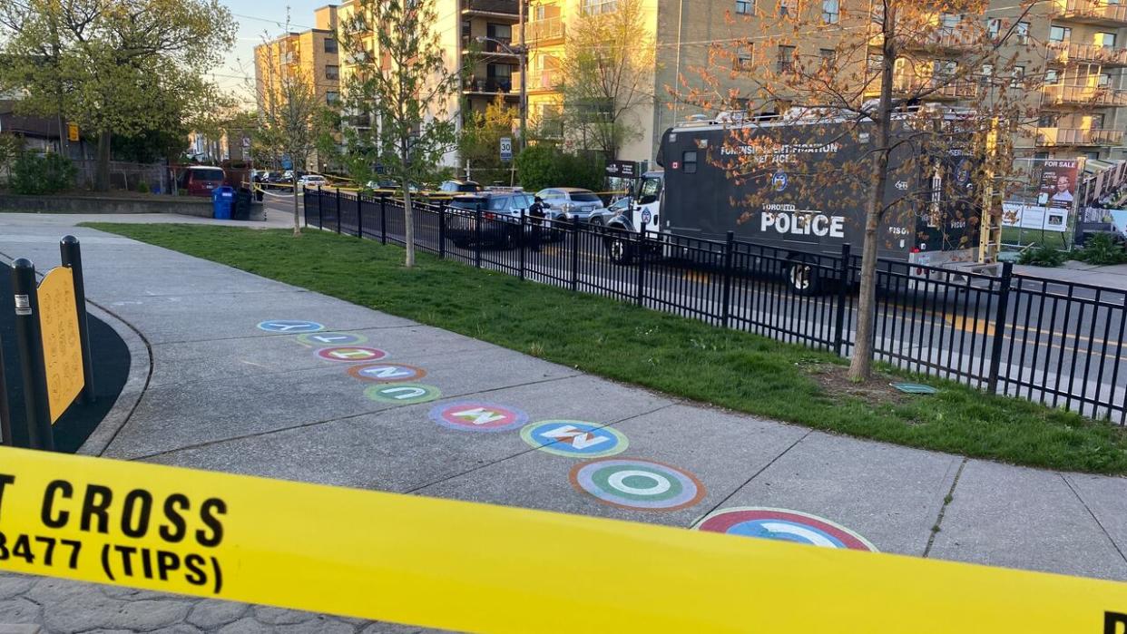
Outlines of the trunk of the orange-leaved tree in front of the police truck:
[[850,381],[868,381],[872,376],[873,324],[877,312],[877,231],[884,215],[885,186],[888,182],[888,151],[893,117],[893,70],[896,64],[894,36],[896,12],[885,2],[881,32],[884,62],[880,69],[880,105],[872,118],[877,123],[877,142],[872,157],[872,180],[864,202],[864,244],[861,248],[861,293],[857,304],[857,343],[850,359]]

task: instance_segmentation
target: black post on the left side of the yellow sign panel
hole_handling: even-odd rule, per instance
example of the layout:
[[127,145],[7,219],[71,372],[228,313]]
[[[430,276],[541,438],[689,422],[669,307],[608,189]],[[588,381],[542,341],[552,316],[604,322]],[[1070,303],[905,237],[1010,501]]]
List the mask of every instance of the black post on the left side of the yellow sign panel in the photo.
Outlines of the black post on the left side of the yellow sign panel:
[[43,334],[39,331],[39,297],[35,283],[35,265],[26,258],[12,262],[11,285],[16,295],[16,345],[19,368],[24,376],[27,446],[54,450],[51,408],[47,402],[47,370],[43,360]]

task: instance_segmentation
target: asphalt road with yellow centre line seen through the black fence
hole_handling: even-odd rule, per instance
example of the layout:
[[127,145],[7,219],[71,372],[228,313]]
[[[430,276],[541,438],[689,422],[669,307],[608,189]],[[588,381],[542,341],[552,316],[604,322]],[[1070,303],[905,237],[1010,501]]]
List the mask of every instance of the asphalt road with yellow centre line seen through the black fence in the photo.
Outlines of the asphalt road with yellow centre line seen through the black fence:
[[[285,198],[285,203],[290,199]],[[337,230],[334,199],[322,211],[325,227]],[[340,231],[356,233],[355,202],[341,199]],[[272,207],[273,208],[273,207]],[[389,206],[389,209],[391,207]],[[286,207],[289,212],[289,207]],[[387,226],[379,213],[365,208],[363,234],[402,243],[401,213],[389,212]],[[317,216],[311,214],[313,224]],[[452,226],[453,222],[447,224]],[[416,218],[416,243],[438,252],[438,222],[433,213]],[[488,223],[487,223],[488,226]],[[800,296],[782,283],[782,261],[760,262],[766,275],[734,276],[727,291],[719,255],[700,256],[716,268],[699,262],[659,258],[616,265],[609,258],[601,236],[582,233],[578,243],[566,236],[547,242],[539,252],[489,244],[480,250],[447,240],[447,258],[527,279],[573,287],[576,291],[642,303],[649,307],[727,324],[791,342],[833,349],[836,337],[836,291]],[[884,282],[891,278],[886,277]],[[573,280],[575,280],[573,283]],[[903,282],[903,278],[898,278]],[[639,297],[639,283],[644,296]],[[878,297],[877,356],[906,369],[985,387],[991,374],[995,339],[1001,334],[999,391],[1042,400],[1097,418],[1127,422],[1127,293],[1109,288],[1068,286],[1037,278],[1014,278],[1006,302],[1005,327],[996,324],[1000,294],[985,279],[913,283]],[[996,280],[994,282],[996,285]],[[889,285],[894,286],[894,285]],[[855,340],[857,297],[846,294],[842,323],[842,352],[851,352]],[[1110,410],[1109,410],[1109,405]]]

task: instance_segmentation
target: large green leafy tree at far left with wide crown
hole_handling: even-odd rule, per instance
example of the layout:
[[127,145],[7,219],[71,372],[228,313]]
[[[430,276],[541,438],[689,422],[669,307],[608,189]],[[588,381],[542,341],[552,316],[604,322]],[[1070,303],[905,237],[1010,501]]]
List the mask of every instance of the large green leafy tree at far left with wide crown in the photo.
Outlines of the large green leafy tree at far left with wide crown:
[[7,0],[0,90],[20,90],[21,111],[97,136],[95,185],[106,190],[114,135],[190,126],[229,102],[202,70],[236,29],[219,0]]

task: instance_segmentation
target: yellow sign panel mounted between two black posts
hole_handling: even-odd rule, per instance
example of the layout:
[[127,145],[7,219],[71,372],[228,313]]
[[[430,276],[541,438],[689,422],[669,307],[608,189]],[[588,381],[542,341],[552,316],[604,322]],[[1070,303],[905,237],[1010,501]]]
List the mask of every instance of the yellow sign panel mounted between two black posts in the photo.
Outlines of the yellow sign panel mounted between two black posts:
[[56,267],[39,283],[39,330],[47,375],[51,422],[63,416],[82,391],[82,346],[78,333],[74,273]]

